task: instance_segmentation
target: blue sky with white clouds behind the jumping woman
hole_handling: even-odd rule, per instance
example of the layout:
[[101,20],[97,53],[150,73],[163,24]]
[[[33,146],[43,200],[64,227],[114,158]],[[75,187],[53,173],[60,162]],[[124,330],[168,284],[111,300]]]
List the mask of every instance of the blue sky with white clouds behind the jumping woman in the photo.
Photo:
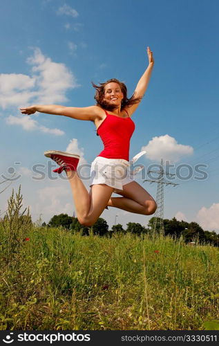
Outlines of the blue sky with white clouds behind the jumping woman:
[[[86,107],[94,104],[91,81],[109,78],[125,81],[131,95],[150,46],[155,66],[133,116],[131,157],[145,147],[139,163],[146,167],[161,157],[175,163],[172,172],[180,164],[208,165],[207,179],[178,179],[177,188],[166,187],[164,217],[218,232],[218,10],[216,0],[1,0],[1,181],[9,167],[21,175],[1,194],[1,212],[21,183],[34,220],[40,214],[44,221],[59,212],[72,215],[68,182],[48,175],[33,180],[32,166],[48,163],[47,149],[77,150],[82,163],[102,150],[92,122],[39,113],[24,117],[19,107]],[[140,176],[137,181],[155,197],[156,184],[142,183]],[[111,226],[115,215],[124,226],[150,219],[113,208],[102,217]]]

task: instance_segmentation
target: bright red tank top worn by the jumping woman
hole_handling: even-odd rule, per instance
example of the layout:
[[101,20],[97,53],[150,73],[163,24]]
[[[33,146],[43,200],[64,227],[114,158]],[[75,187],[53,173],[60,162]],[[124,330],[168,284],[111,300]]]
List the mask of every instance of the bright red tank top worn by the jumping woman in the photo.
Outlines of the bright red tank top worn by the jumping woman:
[[108,114],[99,125],[97,134],[102,139],[104,150],[98,156],[105,158],[123,158],[129,160],[129,145],[131,136],[135,130],[135,124],[129,116],[120,118]]

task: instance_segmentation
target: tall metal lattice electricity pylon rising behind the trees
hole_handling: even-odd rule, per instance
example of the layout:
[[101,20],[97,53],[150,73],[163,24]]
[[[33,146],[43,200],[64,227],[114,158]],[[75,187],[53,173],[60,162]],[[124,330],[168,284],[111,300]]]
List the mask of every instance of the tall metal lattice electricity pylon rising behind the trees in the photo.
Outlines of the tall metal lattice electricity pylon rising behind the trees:
[[149,181],[149,183],[158,184],[157,197],[156,197],[157,210],[155,211],[154,220],[153,220],[153,229],[152,229],[153,237],[155,237],[155,233],[157,230],[158,230],[158,233],[160,233],[160,235],[164,235],[164,185],[173,185],[175,187],[176,185],[179,185],[179,184],[171,183],[164,179],[164,176],[175,176],[175,174],[164,172],[163,160],[161,160],[160,162],[160,170],[155,170],[155,171],[151,170],[149,171],[149,173],[158,174],[157,179],[144,180],[144,181]]

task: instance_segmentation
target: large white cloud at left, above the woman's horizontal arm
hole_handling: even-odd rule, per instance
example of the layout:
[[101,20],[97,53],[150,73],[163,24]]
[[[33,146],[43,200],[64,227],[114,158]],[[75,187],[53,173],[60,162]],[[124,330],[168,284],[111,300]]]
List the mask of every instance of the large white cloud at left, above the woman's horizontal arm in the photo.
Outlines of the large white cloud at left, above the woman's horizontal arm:
[[30,75],[0,74],[1,108],[27,106],[30,102],[66,102],[66,91],[79,86],[73,73],[64,64],[53,62],[39,48],[35,48],[27,62],[32,65]]

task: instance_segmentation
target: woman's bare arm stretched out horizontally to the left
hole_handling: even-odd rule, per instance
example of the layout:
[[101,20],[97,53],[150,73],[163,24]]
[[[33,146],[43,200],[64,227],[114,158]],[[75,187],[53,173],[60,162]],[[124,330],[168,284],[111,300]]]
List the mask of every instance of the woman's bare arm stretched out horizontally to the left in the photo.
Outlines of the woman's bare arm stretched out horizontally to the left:
[[55,104],[34,104],[30,107],[20,108],[22,114],[33,114],[36,111],[40,113],[54,114],[57,116],[68,116],[78,120],[91,120],[94,121],[101,114],[100,107],[65,107]]

